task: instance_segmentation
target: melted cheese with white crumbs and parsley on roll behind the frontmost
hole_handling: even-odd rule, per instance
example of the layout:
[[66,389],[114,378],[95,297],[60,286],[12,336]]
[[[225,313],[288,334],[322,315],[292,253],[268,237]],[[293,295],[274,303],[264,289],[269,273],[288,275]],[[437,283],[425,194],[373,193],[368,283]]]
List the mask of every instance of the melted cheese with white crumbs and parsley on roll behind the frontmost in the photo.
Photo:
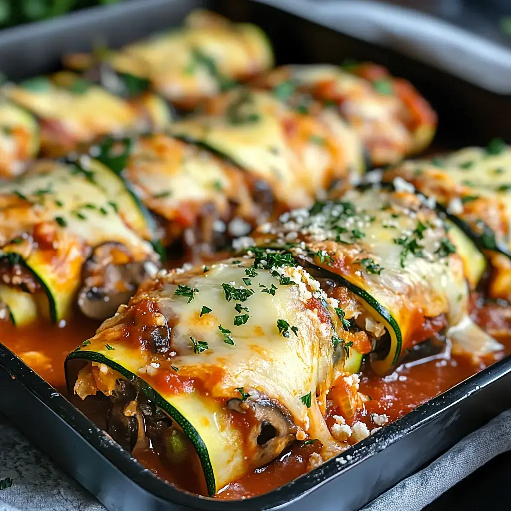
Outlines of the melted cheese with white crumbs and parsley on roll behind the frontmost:
[[[462,261],[450,253],[442,221],[415,196],[352,190],[315,214],[298,210],[284,220],[256,239],[268,243],[277,237],[284,243],[289,233],[296,233],[302,242],[291,250],[306,257],[315,253],[316,264],[342,275],[390,312],[401,330],[403,349],[425,318],[445,314],[450,327],[468,324]],[[366,306],[368,314],[381,321],[372,306]],[[500,349],[478,333],[479,354]]]

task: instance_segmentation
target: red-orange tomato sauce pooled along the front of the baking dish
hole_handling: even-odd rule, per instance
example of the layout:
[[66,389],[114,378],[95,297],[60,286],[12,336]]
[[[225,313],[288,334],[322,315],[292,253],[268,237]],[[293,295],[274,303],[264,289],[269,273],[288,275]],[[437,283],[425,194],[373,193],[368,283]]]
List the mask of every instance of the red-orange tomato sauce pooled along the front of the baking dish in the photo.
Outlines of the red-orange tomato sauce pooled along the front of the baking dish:
[[[99,323],[83,318],[74,318],[62,328],[49,323],[37,323],[29,327],[16,328],[10,323],[0,324],[2,342],[42,378],[62,393],[67,393],[64,376],[64,359],[84,340],[94,335]],[[506,353],[511,352],[511,342],[499,339],[506,345]],[[502,354],[503,356],[503,354]],[[360,392],[371,399],[357,411],[354,421],[363,421],[369,429],[371,413],[385,413],[389,421],[402,415],[425,401],[444,392],[453,385],[475,374],[482,368],[468,357],[453,355],[450,359],[432,360],[426,363],[402,366],[393,374],[382,378],[363,370]],[[73,399],[75,402],[76,400]],[[101,418],[97,421],[100,426]],[[349,421],[352,423],[353,421]],[[266,467],[255,470],[239,481],[225,486],[218,494],[222,499],[240,499],[266,493],[285,484],[307,471],[307,462],[312,452],[318,450],[313,445],[295,446]],[[134,453],[137,459],[160,477],[183,487],[187,478],[182,468],[172,470],[162,465],[152,451]],[[192,490],[190,487],[189,490]],[[193,490],[192,490],[193,491]]]

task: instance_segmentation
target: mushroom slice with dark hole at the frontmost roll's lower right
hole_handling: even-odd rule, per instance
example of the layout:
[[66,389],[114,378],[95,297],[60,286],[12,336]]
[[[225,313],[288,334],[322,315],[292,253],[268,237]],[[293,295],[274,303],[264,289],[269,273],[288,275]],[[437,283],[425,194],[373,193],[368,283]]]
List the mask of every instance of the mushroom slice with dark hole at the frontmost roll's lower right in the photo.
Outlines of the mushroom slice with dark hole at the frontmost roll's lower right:
[[253,453],[250,462],[254,468],[269,463],[296,440],[298,427],[291,420],[289,413],[274,400],[230,399],[227,408],[252,416],[252,420],[249,420],[252,426],[246,442],[247,452]]

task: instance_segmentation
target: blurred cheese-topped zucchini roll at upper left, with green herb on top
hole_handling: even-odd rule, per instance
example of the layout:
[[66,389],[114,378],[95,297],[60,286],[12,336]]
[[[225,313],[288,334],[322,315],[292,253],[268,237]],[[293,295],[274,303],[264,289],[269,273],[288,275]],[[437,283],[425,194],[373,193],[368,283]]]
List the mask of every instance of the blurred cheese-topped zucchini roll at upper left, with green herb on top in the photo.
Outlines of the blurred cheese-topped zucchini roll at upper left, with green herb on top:
[[[69,72],[7,84],[2,94],[37,118],[42,156],[62,156],[102,135],[159,130],[170,122],[167,105],[152,94],[125,100]],[[28,124],[27,115],[18,114],[13,130]]]

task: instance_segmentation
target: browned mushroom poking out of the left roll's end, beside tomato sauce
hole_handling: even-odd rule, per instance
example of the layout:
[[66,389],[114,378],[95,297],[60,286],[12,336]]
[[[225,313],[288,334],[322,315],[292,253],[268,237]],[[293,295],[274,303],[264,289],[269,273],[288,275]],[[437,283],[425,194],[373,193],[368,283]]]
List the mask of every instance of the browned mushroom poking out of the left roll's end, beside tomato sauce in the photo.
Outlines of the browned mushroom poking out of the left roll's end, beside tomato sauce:
[[157,271],[158,265],[152,260],[132,262],[122,243],[97,246],[83,267],[83,287],[78,294],[80,310],[93,319],[113,316],[136,288]]

